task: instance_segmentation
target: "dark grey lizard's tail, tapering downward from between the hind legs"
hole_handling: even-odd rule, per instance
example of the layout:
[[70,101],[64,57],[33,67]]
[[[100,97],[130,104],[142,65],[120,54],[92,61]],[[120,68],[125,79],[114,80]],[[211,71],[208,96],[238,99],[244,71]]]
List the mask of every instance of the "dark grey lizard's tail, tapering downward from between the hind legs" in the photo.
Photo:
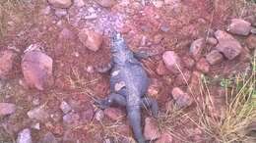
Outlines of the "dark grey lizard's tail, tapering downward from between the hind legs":
[[134,136],[138,143],[146,143],[142,134],[141,108],[140,106],[128,108],[128,119],[131,123]]

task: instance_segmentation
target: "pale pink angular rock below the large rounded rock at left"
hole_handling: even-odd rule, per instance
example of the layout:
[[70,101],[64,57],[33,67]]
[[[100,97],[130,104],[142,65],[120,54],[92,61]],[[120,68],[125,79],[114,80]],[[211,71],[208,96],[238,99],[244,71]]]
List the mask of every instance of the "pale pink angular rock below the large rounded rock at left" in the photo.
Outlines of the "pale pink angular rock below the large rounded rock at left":
[[40,121],[46,121],[49,118],[49,114],[44,105],[32,109],[27,113],[30,119],[37,119]]

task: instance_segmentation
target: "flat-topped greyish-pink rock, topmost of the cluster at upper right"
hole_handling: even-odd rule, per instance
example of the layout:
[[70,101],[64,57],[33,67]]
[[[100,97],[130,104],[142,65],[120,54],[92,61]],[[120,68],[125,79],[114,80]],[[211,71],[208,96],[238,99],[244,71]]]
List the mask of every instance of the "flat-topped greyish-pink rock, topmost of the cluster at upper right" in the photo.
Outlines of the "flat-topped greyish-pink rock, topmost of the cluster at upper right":
[[232,19],[227,27],[228,32],[238,35],[248,35],[250,30],[251,24],[241,19]]

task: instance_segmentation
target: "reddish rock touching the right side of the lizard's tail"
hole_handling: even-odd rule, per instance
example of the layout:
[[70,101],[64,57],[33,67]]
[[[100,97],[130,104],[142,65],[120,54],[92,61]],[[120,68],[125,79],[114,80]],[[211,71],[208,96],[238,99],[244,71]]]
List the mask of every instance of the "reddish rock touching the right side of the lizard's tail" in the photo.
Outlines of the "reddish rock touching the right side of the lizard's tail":
[[156,140],[160,137],[160,131],[156,120],[151,118],[145,119],[144,137],[146,140]]

